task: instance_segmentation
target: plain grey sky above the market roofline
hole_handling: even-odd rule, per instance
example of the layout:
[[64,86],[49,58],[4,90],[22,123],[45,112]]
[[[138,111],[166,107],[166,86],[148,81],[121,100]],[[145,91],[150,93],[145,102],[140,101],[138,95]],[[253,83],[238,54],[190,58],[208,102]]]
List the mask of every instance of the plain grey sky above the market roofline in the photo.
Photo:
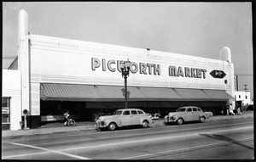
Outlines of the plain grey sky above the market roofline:
[[[3,69],[17,56],[18,14],[31,34],[220,59],[230,47],[239,90],[253,96],[252,3],[4,2]],[[253,98],[253,97],[251,97]]]

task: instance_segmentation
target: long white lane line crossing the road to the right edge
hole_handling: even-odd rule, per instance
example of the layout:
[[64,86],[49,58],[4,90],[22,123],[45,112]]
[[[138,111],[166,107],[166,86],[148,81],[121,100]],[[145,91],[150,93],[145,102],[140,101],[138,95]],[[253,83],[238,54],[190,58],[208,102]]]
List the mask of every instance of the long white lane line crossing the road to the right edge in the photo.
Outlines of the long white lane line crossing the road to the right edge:
[[[250,128],[253,128],[253,126],[227,129],[227,130],[221,130],[221,131],[236,131],[236,130],[244,130],[244,129],[250,129]],[[97,146],[87,146],[87,147],[80,147],[80,148],[67,148],[67,149],[59,150],[57,152],[64,152],[64,151],[71,151],[71,150],[78,150],[78,149],[88,149],[88,148],[102,148],[102,147],[110,147],[110,146],[114,146],[114,145],[125,145],[125,144],[138,143],[138,142],[150,142],[150,141],[157,141],[157,140],[166,140],[166,139],[170,139],[170,138],[172,139],[172,138],[175,138],[175,137],[191,137],[191,136],[198,136],[202,133],[207,134],[207,133],[215,133],[215,132],[220,132],[220,131],[199,132],[199,133],[182,135],[182,136],[157,137],[157,138],[149,138],[149,139],[145,139],[145,140],[137,140],[137,141],[131,141],[131,142],[115,142],[115,143],[110,143],[110,144],[102,144],[102,145],[97,145]],[[9,143],[13,143],[13,142],[9,142]],[[19,143],[17,143],[17,144],[19,144]],[[23,145],[23,144],[20,144],[20,145]],[[34,147],[34,146],[32,146],[32,147]],[[47,153],[39,153],[39,154],[47,154]],[[62,153],[62,154],[64,154],[64,153]],[[30,155],[30,154],[23,154],[23,155],[20,154],[20,155],[14,155],[14,156],[3,157],[3,158],[14,158],[16,156],[26,156],[26,155]]]

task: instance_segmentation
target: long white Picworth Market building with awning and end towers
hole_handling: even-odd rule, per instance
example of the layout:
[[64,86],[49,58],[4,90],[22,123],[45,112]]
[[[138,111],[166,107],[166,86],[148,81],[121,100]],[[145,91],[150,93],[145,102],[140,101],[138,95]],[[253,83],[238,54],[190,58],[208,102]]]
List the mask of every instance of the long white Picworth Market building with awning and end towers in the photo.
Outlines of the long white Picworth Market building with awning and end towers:
[[[195,105],[220,112],[226,103],[235,104],[234,64],[228,47],[221,51],[220,60],[206,59],[29,35],[27,29],[27,14],[22,10],[18,59],[9,67],[20,73],[22,98],[15,103],[19,107],[10,106],[20,115],[10,120],[11,125],[20,124],[24,109],[29,112],[28,126],[33,128],[44,121],[63,120],[66,109],[76,120],[94,120],[96,115],[109,115],[124,108],[124,78],[119,62],[127,59],[131,61],[129,108],[164,116],[180,106]],[[6,84],[9,85],[3,85],[3,90],[15,83]],[[10,116],[12,119],[12,113]]]

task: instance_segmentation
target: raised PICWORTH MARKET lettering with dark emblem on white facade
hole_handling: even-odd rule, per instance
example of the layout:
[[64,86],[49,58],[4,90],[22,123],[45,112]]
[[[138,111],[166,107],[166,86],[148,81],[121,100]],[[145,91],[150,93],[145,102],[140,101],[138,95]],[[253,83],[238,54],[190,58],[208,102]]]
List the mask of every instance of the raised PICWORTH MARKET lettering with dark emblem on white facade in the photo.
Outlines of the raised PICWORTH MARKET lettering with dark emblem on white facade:
[[[91,70],[102,69],[102,71],[109,70],[111,72],[119,71],[120,69],[120,61],[121,60],[114,60],[110,59],[97,59],[91,58]],[[136,74],[139,72],[143,75],[161,75],[160,64],[148,64],[148,63],[139,63],[131,62],[131,73]],[[220,71],[220,70],[214,70]],[[224,71],[222,71],[224,74]],[[182,67],[182,66],[172,66],[170,65],[168,68],[169,76],[176,76],[176,77],[189,77],[189,78],[203,78],[206,79],[206,69],[200,68],[191,68],[191,67]],[[212,74],[211,74],[212,75]],[[212,75],[213,76],[213,75]],[[222,75],[224,77],[224,75]],[[213,76],[214,77],[214,76]],[[221,77],[215,77],[221,78]]]

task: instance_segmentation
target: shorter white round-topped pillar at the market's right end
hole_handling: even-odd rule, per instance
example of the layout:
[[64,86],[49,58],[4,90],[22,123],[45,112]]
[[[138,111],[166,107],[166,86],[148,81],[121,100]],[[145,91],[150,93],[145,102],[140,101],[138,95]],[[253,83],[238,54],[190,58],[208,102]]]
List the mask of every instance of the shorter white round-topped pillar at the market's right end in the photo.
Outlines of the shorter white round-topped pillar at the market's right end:
[[[235,80],[234,80],[234,64],[231,63],[231,50],[230,47],[223,47],[220,51],[220,59],[223,61],[227,61],[229,64],[229,75],[227,76],[230,81],[230,90],[228,93],[235,98]],[[235,109],[235,100],[230,99],[229,101],[233,105],[233,109]]]

